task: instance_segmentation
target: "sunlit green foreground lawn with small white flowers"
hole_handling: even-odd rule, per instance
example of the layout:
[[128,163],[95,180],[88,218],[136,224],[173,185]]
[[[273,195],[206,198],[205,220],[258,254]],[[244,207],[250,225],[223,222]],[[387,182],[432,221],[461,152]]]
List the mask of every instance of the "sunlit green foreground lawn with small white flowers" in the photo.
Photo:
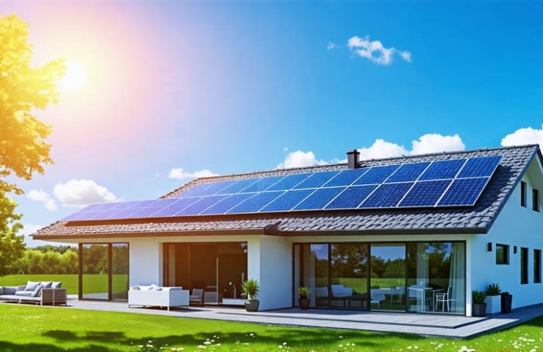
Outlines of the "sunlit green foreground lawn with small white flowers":
[[1,351],[537,351],[543,317],[470,341],[0,305]]

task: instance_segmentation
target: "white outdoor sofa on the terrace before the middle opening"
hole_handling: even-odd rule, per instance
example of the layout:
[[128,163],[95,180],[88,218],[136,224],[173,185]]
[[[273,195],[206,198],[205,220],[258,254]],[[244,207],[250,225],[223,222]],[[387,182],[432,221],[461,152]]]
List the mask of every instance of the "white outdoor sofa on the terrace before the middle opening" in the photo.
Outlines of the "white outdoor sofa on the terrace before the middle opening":
[[132,305],[147,307],[171,307],[188,308],[188,290],[181,287],[130,286],[128,291],[128,308]]

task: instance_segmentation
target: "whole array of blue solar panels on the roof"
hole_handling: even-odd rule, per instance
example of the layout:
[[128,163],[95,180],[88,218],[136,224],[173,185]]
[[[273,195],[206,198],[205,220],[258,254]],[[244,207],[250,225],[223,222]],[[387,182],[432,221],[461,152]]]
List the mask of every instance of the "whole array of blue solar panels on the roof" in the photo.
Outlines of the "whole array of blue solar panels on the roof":
[[90,205],[64,221],[475,205],[500,155],[199,183],[174,198]]

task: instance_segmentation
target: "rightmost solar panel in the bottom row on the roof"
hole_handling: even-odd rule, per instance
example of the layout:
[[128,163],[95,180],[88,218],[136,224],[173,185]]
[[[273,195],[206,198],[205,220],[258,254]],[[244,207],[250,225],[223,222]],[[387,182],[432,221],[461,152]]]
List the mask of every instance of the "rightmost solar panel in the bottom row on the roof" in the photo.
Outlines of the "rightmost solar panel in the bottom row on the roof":
[[439,205],[475,205],[488,181],[488,177],[458,178],[441,198]]

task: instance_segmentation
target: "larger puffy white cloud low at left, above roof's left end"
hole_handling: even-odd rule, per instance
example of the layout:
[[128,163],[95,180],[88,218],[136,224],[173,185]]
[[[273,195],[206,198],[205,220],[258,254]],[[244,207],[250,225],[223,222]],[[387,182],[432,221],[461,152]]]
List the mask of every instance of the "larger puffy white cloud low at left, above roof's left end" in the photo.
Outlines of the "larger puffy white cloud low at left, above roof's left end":
[[104,186],[92,180],[70,180],[57,183],[53,194],[65,207],[85,207],[86,205],[103,202],[114,202],[118,198]]

